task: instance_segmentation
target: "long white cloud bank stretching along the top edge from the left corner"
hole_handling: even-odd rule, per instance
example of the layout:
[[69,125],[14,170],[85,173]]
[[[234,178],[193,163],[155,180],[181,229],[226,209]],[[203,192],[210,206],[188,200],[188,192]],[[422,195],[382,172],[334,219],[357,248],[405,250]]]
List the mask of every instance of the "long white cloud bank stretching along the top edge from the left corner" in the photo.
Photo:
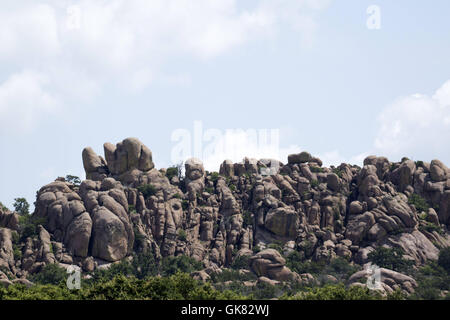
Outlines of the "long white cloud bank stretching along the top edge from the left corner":
[[99,82],[131,79],[134,90],[174,57],[213,58],[286,24],[310,37],[314,13],[328,2],[263,0],[249,8],[237,0],[6,2],[0,60],[42,72],[58,61]]

